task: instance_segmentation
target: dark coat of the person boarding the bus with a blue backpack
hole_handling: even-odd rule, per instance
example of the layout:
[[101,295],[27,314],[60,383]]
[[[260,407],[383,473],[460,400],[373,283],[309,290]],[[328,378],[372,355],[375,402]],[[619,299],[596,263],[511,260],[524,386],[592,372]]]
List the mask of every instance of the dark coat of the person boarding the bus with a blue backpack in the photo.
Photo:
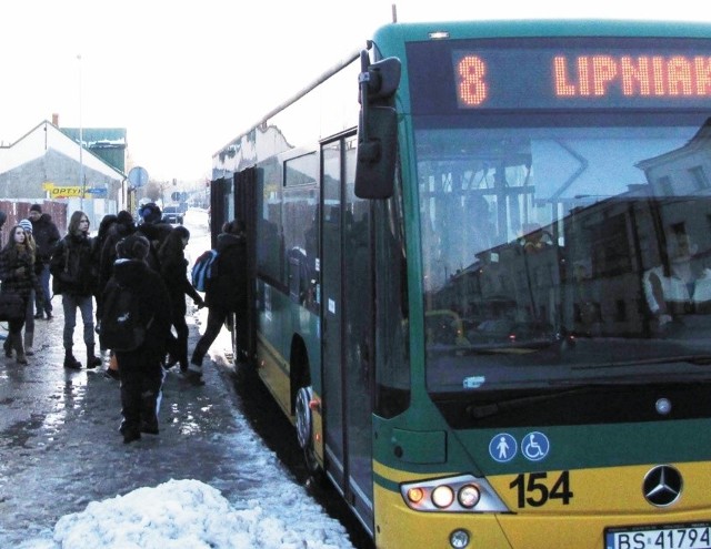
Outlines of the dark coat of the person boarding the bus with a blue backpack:
[[206,304],[210,308],[239,312],[247,306],[247,240],[242,235],[218,235],[216,277],[208,281]]

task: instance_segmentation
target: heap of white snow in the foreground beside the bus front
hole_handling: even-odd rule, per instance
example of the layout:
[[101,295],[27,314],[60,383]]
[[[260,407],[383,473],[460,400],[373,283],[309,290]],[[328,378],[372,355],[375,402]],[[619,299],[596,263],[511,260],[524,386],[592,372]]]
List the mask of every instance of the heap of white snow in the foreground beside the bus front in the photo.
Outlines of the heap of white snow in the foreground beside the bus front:
[[303,488],[277,480],[263,500],[231,506],[198,480],[169,480],[126,496],[92,501],[66,515],[54,541],[30,540],[18,549],[342,549],[344,528],[314,514]]

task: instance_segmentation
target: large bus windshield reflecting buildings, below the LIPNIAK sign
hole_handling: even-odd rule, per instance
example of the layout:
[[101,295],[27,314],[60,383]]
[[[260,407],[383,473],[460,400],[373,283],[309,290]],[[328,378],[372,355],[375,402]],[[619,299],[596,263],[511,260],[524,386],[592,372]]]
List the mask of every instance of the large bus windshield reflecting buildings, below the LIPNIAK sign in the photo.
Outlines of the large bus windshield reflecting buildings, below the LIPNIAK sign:
[[708,380],[704,116],[414,116],[429,389]]

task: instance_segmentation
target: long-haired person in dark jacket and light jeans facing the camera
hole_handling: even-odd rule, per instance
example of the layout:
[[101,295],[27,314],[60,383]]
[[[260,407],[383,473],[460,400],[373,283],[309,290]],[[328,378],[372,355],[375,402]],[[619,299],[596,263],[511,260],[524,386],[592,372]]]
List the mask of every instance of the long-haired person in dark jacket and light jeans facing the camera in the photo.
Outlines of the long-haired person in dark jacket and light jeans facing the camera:
[[57,243],[50,261],[52,288],[61,294],[64,311],[64,368],[81,369],[73,355],[77,308],[83,322],[83,339],[87,345],[87,368],[101,365],[94,355],[93,291],[97,285],[98,266],[93,265],[93,244],[89,236],[89,217],[84,212],[71,214],[67,235]]

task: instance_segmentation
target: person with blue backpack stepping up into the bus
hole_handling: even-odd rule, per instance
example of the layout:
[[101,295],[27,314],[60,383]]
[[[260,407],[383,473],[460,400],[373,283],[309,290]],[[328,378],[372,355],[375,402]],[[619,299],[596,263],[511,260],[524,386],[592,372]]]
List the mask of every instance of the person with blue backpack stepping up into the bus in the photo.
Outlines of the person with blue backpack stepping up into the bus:
[[[237,313],[236,326],[238,346],[246,348],[243,334],[247,311],[247,237],[244,224],[232,221],[226,223],[218,235],[217,260],[213,265],[214,275],[207,279],[206,305],[208,306],[208,324],[204,334],[198,340],[186,373],[186,378],[203,385],[202,360],[210,345],[220,334],[222,325],[230,313]],[[238,329],[239,326],[239,329]],[[240,335],[242,334],[242,335]]]

